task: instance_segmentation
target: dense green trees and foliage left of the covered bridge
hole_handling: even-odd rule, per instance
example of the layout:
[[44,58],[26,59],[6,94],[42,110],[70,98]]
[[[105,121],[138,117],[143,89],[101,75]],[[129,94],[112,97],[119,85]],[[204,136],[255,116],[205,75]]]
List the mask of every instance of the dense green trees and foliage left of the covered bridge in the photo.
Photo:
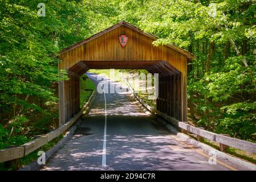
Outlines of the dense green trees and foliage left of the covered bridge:
[[50,130],[58,117],[53,55],[91,34],[82,4],[44,1],[46,16],[38,16],[40,2],[0,1],[1,148]]

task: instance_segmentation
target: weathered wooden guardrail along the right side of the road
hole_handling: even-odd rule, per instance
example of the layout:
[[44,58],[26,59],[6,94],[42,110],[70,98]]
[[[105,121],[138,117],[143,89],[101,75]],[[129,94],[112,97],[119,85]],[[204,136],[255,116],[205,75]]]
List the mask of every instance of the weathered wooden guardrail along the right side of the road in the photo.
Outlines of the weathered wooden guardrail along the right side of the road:
[[256,143],[247,142],[245,140],[241,140],[241,139],[237,139],[237,138],[232,138],[225,134],[222,135],[222,134],[212,133],[210,131],[204,130],[201,127],[189,125],[187,122],[178,121],[177,119],[170,117],[166,113],[162,113],[161,111],[156,110],[154,107],[147,105],[143,100],[141,100],[141,98],[133,91],[131,85],[129,84],[129,82],[127,80],[125,80],[125,82],[127,83],[128,88],[131,90],[133,96],[135,96],[137,98],[137,100],[139,100],[139,102],[142,105],[144,105],[149,111],[151,111],[152,114],[160,115],[166,121],[169,121],[170,123],[172,123],[172,125],[179,127],[181,129],[182,133],[195,134],[197,137],[197,140],[200,140],[201,138],[206,138],[213,142],[220,143],[221,151],[225,151],[225,149],[227,147],[233,147],[233,148],[237,148],[239,150],[256,153]]

